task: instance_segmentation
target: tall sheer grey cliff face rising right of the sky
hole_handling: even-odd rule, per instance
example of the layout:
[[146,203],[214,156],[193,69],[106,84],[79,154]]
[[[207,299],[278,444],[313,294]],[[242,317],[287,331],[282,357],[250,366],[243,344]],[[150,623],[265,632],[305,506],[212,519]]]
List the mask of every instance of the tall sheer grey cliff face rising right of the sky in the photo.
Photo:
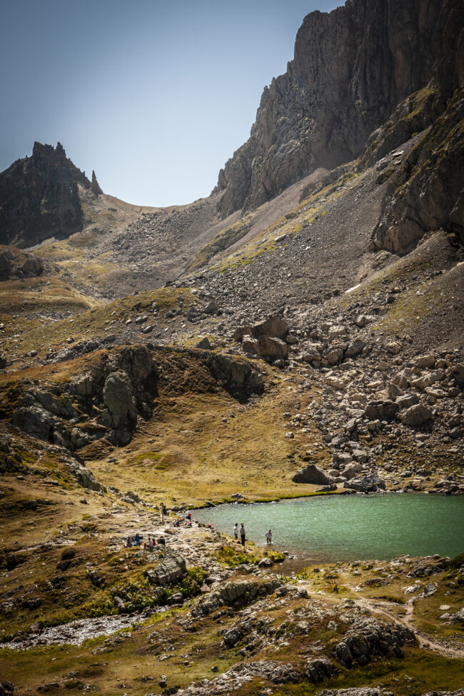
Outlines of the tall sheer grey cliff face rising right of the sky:
[[286,74],[263,91],[251,137],[219,173],[221,215],[357,157],[395,106],[430,80],[442,11],[441,0],[348,0],[308,14]]

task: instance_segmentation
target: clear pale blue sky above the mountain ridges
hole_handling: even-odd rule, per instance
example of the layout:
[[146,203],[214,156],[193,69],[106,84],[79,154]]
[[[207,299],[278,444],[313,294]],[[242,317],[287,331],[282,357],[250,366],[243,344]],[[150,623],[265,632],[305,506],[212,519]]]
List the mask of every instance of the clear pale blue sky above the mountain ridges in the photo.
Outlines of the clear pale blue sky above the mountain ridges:
[[207,196],[313,9],[343,0],[0,0],[0,171],[56,145],[130,203]]

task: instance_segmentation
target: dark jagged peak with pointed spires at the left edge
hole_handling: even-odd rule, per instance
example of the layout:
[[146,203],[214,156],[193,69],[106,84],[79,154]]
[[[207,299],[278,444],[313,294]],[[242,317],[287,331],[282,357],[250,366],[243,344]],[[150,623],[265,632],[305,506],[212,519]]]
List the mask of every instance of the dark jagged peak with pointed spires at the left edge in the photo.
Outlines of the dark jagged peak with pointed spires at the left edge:
[[78,183],[94,193],[99,188],[66,157],[61,143],[34,143],[31,157],[0,173],[0,243],[28,247],[80,231]]

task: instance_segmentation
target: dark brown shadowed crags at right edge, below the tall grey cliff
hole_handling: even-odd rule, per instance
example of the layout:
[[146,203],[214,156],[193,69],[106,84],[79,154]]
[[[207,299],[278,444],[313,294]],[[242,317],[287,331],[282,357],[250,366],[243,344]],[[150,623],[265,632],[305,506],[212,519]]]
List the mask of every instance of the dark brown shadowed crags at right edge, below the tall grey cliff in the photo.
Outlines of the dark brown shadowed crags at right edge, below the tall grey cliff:
[[407,253],[444,228],[464,244],[464,4],[446,0],[438,27],[441,53],[428,86],[405,100],[369,138],[360,162],[375,161],[430,126],[391,177],[373,248]]

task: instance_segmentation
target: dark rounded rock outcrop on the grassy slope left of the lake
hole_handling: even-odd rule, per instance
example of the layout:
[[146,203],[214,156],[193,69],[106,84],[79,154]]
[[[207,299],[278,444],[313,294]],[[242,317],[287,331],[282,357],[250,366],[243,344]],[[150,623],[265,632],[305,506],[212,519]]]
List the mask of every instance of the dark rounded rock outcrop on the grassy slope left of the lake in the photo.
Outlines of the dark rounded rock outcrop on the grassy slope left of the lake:
[[[157,383],[158,368],[148,348],[125,346],[102,353],[88,372],[73,380],[43,383],[21,393],[11,423],[34,438],[70,450],[103,437],[126,445],[137,418],[151,416]],[[89,488],[94,486],[89,483]]]

